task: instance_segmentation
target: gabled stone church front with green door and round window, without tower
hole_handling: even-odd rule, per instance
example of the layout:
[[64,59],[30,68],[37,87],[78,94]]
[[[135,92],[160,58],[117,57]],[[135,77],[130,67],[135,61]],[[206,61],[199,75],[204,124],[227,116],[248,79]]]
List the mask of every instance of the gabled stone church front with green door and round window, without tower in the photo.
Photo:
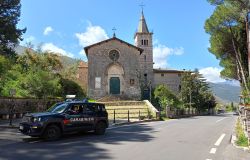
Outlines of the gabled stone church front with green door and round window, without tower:
[[88,57],[88,96],[121,95],[139,99],[140,64],[143,50],[115,36],[85,47]]

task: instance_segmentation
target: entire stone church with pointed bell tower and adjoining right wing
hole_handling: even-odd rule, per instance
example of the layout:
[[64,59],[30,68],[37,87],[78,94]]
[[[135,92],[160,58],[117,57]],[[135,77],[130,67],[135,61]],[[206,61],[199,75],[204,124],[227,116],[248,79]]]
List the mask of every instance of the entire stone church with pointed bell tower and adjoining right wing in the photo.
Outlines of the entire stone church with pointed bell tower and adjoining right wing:
[[[158,83],[170,82],[164,79],[170,77],[168,74],[171,73],[171,77],[176,78],[171,82],[179,83],[180,77],[172,74],[179,75],[181,71],[168,72],[157,69],[156,72],[153,69],[152,35],[142,12],[134,35],[134,45],[117,38],[114,34],[110,39],[85,47],[88,58],[88,80],[85,82],[88,86],[88,96],[94,99],[112,95],[124,99],[147,99],[152,87]],[[158,76],[159,73],[165,74],[165,77]],[[178,86],[175,88],[178,90],[179,84],[175,86]]]

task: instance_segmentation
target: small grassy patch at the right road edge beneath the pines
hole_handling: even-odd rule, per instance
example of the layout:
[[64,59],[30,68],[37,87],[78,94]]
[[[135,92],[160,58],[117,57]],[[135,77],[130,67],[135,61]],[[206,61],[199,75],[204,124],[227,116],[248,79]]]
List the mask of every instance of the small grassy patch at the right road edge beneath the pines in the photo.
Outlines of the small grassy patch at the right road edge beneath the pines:
[[248,138],[246,137],[246,135],[244,133],[244,130],[240,124],[239,119],[237,120],[237,123],[236,123],[236,137],[237,137],[236,144],[238,146],[241,146],[241,147],[248,147],[249,146]]

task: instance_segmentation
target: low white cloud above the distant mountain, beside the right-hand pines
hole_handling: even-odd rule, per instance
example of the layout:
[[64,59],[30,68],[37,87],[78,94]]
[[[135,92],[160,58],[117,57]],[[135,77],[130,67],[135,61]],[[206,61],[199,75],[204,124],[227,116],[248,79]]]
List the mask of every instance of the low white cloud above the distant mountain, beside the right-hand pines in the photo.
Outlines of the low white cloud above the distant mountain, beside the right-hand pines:
[[212,83],[226,82],[225,79],[222,79],[220,77],[221,70],[222,69],[216,67],[207,67],[200,69],[199,72],[204,76],[204,78],[207,79],[208,82]]

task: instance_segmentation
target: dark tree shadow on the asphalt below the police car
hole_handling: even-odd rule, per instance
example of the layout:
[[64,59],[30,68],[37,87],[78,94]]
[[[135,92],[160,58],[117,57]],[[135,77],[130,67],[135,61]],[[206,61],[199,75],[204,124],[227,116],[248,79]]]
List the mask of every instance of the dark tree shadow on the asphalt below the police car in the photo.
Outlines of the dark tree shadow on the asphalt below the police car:
[[146,124],[123,126],[107,130],[103,136],[93,133],[66,135],[59,141],[45,142],[38,138],[23,138],[21,142],[0,143],[0,159],[112,159],[108,148],[123,142],[147,142],[154,137],[153,128]]

